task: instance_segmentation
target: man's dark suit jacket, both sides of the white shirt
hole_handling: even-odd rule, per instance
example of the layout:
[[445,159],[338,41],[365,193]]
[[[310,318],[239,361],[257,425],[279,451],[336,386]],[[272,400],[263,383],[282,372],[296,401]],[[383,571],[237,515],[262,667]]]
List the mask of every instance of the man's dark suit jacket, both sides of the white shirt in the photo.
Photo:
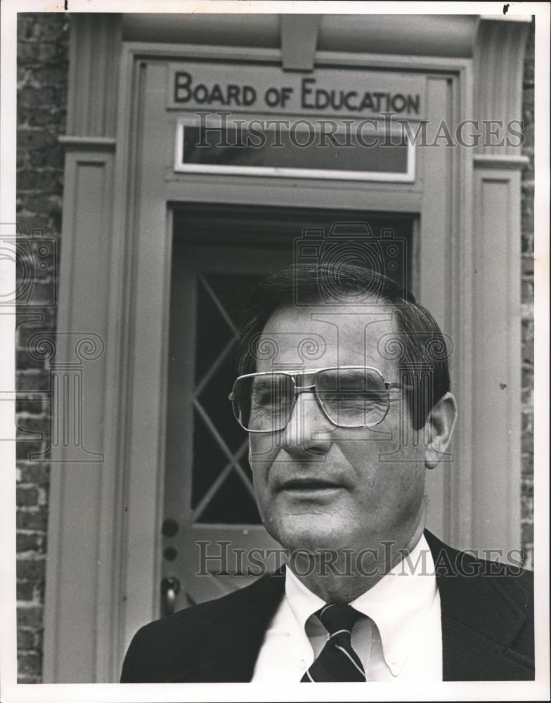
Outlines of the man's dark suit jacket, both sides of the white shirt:
[[[533,574],[474,559],[428,531],[425,537],[441,599],[443,680],[532,680]],[[284,590],[281,569],[143,626],[121,683],[250,681]]]

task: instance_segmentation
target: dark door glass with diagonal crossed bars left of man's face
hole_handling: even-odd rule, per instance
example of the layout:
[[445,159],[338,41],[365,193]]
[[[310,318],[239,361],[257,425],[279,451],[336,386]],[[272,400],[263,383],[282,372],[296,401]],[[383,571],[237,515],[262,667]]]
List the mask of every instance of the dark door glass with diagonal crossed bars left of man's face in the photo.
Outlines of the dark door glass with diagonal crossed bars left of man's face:
[[247,437],[228,394],[237,366],[239,311],[258,276],[197,273],[191,503],[195,522],[259,524]]

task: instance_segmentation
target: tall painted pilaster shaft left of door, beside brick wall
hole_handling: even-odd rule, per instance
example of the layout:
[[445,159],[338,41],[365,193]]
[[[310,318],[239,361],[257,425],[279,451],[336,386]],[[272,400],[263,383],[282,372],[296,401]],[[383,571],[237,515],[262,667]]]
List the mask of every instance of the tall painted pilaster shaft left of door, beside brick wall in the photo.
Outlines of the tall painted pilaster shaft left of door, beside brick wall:
[[[56,366],[74,367],[79,339],[101,340],[101,354],[82,368],[82,438],[51,449],[51,491],[44,606],[44,681],[97,681],[102,650],[110,656],[112,515],[117,480],[110,420],[109,290],[115,155],[70,150],[65,157],[63,247]],[[82,209],[79,205],[84,206]],[[91,269],[90,262],[96,264]],[[103,295],[100,291],[105,291]],[[86,330],[78,333],[76,330]],[[65,394],[54,392],[63,422],[74,422]],[[93,456],[95,455],[95,456]],[[101,455],[101,456],[100,456]],[[107,522],[109,520],[109,522]],[[84,638],[82,632],[95,633]],[[101,647],[98,647],[98,640]]]

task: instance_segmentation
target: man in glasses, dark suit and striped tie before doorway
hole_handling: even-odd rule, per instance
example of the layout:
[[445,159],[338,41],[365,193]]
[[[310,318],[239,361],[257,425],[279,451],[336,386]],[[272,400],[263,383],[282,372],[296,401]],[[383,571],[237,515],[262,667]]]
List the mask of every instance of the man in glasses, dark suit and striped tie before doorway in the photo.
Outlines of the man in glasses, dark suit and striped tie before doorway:
[[434,318],[349,265],[278,272],[254,299],[231,400],[290,560],[141,628],[122,681],[533,679],[531,574],[424,529],[457,412]]

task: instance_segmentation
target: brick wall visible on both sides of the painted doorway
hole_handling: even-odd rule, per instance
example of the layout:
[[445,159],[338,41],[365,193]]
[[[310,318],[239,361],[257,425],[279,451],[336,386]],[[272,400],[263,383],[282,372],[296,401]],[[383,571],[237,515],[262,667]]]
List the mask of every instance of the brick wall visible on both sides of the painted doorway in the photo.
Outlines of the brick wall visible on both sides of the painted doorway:
[[[25,238],[33,230],[58,241],[63,193],[63,148],[67,90],[67,18],[64,15],[20,15],[18,26],[18,225]],[[522,186],[522,543],[526,565],[533,564],[533,37],[529,39],[524,75],[524,153],[531,159]],[[59,250],[58,242],[58,250]],[[59,253],[59,251],[57,252]],[[48,520],[48,463],[28,460],[46,449],[49,373],[47,362],[32,353],[34,333],[55,330],[55,307],[41,307],[51,288],[48,276],[58,259],[37,269],[31,304],[18,316],[18,512],[17,598],[19,681],[41,681],[42,626]],[[46,292],[45,292],[46,291]],[[39,316],[39,320],[32,320]],[[39,433],[39,434],[36,434]]]

